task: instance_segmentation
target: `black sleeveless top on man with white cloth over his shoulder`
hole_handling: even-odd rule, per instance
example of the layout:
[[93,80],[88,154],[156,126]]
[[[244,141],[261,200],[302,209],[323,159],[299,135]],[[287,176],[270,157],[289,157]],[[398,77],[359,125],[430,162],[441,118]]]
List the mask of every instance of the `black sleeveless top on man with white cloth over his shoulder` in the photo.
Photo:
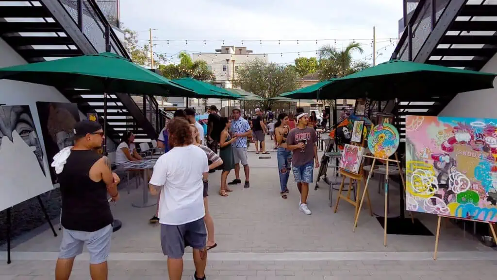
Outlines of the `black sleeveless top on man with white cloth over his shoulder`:
[[113,221],[107,186],[88,176],[102,156],[93,150],[72,150],[58,175],[62,195],[61,224],[68,230],[94,232]]

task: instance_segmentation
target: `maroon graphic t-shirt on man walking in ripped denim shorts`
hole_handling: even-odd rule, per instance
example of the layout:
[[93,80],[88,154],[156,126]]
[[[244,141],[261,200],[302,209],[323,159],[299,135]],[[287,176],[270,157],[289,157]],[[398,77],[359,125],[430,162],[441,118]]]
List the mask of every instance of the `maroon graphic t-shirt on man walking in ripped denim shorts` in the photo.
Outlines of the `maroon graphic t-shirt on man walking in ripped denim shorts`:
[[292,151],[292,165],[299,167],[313,161],[314,159],[314,146],[318,141],[318,136],[313,128],[306,127],[301,130],[294,128],[288,133],[288,145],[296,145],[304,143],[306,147],[304,150],[298,148]]

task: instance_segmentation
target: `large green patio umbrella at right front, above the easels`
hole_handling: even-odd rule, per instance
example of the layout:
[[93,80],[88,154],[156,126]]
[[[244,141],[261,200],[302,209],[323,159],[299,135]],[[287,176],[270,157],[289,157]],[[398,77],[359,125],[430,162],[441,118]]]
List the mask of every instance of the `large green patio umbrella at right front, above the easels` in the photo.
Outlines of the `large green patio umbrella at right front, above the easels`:
[[320,99],[443,97],[493,88],[497,74],[391,60],[324,85]]

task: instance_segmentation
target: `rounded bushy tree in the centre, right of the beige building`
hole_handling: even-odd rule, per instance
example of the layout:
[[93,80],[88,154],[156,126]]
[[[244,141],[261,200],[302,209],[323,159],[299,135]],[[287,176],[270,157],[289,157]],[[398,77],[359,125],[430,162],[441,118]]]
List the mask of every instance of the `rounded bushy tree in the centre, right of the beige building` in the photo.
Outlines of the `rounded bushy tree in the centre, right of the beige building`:
[[300,82],[294,68],[255,59],[238,69],[234,85],[264,98],[259,104],[267,108],[273,103],[268,98],[296,90]]

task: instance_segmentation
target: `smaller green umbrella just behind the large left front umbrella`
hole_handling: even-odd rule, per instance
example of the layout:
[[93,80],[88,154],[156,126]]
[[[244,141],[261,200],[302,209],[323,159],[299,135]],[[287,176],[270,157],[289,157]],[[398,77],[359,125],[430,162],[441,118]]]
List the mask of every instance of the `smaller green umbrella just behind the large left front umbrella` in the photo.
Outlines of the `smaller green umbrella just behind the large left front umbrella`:
[[232,93],[222,88],[218,88],[209,83],[205,83],[199,80],[195,80],[190,77],[172,79],[173,83],[176,83],[185,88],[195,91],[195,98],[221,98],[221,99],[237,99],[241,98],[241,95]]

